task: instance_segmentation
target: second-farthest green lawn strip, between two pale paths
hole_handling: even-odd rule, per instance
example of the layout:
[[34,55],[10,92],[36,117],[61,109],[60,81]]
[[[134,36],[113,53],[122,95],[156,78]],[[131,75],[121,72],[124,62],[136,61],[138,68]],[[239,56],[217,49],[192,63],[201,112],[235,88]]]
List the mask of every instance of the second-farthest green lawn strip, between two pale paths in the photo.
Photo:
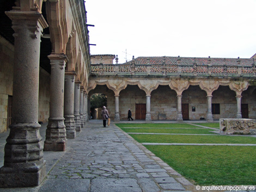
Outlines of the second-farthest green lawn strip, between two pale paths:
[[176,134],[216,134],[210,131],[212,129],[195,129],[195,128],[121,128],[127,133],[176,133]]

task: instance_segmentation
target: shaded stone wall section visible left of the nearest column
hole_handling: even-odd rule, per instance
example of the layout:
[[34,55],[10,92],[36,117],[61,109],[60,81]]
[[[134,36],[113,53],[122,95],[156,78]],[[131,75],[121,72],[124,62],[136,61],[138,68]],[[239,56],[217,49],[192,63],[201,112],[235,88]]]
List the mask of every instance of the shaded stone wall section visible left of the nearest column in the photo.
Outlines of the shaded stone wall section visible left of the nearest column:
[[14,46],[0,36],[0,132],[7,131],[8,95],[13,95]]

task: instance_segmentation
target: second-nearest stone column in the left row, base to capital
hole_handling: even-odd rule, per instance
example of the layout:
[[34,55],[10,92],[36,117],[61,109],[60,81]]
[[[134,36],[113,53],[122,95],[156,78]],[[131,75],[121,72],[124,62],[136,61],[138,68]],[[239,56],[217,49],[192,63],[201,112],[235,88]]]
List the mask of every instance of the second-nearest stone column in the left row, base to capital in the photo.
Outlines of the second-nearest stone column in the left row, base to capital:
[[44,151],[65,151],[66,128],[64,124],[64,78],[66,55],[52,53],[50,85],[50,116],[46,129]]

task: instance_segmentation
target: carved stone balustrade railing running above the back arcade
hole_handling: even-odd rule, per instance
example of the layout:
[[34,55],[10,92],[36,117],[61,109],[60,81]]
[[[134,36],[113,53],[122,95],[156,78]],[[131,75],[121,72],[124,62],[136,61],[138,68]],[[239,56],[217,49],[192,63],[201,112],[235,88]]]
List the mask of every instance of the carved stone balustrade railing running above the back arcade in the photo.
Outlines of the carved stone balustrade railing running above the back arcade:
[[92,64],[92,75],[252,76],[255,66]]

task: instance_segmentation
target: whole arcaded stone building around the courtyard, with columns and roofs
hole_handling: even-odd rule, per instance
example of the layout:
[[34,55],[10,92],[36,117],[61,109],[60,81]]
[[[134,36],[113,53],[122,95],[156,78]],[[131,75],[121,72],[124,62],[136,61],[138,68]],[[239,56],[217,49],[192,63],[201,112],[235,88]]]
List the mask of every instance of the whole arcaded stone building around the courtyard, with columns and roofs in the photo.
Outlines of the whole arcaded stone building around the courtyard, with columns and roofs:
[[[86,128],[90,96],[107,96],[111,119],[256,118],[254,59],[90,55],[81,0],[3,0],[0,23],[0,187],[32,187],[43,151],[65,151]],[[113,64],[115,59],[115,64]],[[46,139],[39,134],[47,123]]]

